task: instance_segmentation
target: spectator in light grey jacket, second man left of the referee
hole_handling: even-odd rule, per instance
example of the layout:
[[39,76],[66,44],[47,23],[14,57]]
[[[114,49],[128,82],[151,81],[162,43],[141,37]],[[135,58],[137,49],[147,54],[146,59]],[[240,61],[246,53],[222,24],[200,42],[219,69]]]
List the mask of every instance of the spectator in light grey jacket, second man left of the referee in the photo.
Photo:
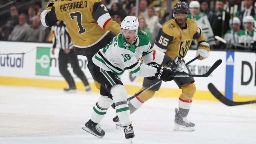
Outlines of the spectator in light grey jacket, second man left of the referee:
[[29,25],[27,24],[27,15],[20,14],[19,16],[19,24],[16,25],[9,35],[9,41],[23,41],[26,37],[27,31],[29,29]]

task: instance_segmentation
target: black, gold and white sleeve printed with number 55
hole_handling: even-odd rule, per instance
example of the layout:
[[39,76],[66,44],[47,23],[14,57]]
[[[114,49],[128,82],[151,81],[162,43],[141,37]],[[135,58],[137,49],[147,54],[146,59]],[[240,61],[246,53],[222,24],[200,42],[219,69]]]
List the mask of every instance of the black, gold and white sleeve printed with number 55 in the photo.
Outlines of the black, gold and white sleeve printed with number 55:
[[170,36],[166,34],[163,29],[161,28],[159,30],[159,33],[156,37],[156,42],[154,45],[154,49],[161,51],[161,52],[166,52],[168,45],[173,41],[173,36]]

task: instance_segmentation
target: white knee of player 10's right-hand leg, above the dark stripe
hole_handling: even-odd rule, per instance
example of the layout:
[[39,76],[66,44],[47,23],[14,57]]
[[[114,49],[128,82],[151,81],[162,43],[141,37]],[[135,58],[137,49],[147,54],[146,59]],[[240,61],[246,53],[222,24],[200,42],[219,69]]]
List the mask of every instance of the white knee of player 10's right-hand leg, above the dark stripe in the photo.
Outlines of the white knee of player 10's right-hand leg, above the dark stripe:
[[121,84],[116,84],[114,85],[111,90],[110,94],[113,96],[113,100],[115,102],[117,101],[127,101],[127,92],[126,89],[123,85]]

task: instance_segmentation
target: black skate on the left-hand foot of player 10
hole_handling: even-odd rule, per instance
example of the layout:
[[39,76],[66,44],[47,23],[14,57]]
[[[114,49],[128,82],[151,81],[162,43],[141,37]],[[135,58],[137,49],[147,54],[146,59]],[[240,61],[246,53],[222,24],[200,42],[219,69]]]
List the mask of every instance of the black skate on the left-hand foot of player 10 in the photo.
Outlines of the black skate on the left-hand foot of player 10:
[[82,127],[83,130],[87,131],[88,133],[95,135],[96,137],[103,138],[105,135],[104,130],[100,127],[98,123],[95,123],[91,120],[89,120],[85,127]]

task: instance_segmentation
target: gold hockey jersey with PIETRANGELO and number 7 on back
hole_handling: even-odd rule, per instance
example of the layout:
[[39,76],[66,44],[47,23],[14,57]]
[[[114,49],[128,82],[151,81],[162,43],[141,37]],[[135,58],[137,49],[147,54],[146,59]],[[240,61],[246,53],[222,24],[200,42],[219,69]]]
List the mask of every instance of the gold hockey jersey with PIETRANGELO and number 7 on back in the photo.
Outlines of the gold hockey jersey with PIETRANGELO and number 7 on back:
[[109,16],[100,0],[59,0],[41,16],[44,26],[63,20],[75,47],[87,48],[98,43],[110,31],[120,33],[120,25]]

